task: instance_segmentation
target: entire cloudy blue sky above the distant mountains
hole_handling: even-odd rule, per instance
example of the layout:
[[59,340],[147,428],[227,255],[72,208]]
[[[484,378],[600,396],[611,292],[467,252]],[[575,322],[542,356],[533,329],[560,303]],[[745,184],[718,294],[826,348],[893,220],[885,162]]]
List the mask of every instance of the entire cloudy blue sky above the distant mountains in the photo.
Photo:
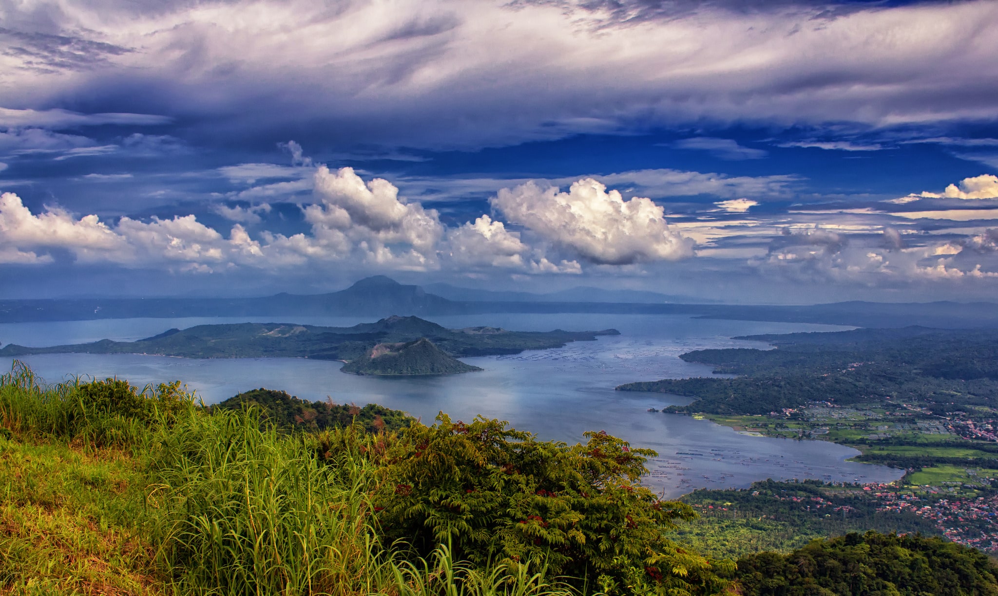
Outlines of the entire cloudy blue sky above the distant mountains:
[[998,298],[998,2],[0,0],[0,298]]

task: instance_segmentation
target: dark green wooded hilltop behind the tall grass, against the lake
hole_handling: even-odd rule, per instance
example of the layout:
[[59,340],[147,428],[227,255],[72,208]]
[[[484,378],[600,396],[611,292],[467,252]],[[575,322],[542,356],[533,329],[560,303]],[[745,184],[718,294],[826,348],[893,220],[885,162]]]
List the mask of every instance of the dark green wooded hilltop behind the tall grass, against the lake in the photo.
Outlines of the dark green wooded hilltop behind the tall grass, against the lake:
[[345,429],[361,425],[367,433],[397,431],[408,427],[413,418],[399,410],[389,410],[377,404],[358,407],[353,404],[306,402],[282,391],[253,389],[216,404],[213,410],[243,410],[258,408],[260,418],[279,429],[305,432]]

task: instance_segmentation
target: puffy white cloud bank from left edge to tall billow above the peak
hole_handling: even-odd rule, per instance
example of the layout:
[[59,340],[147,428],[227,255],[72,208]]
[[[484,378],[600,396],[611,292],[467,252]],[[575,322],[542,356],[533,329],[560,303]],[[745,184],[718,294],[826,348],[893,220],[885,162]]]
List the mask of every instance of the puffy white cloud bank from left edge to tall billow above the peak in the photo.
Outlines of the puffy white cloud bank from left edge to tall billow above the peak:
[[[7,192],[0,198],[0,258],[37,264],[51,262],[53,251],[63,250],[80,263],[191,272],[274,269],[309,261],[387,270],[438,265],[444,228],[436,211],[400,197],[387,180],[364,182],[348,167],[330,171],[322,165],[314,168],[312,178],[315,202],[302,208],[309,233],[285,236],[262,230],[255,238],[242,224],[260,223],[260,214],[270,210],[267,203],[214,205],[214,212],[238,222],[227,238],[195,215],[149,221],[122,217],[111,224],[95,214],[80,217],[58,207],[35,214],[18,195]],[[532,263],[524,261],[523,267]]]

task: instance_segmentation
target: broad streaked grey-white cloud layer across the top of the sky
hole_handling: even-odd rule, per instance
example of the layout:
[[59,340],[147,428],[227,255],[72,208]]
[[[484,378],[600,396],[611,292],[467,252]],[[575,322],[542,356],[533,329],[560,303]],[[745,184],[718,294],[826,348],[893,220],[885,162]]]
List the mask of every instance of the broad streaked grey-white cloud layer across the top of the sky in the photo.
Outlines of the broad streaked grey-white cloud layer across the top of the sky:
[[[223,147],[479,149],[683,123],[993,120],[998,7],[896,4],[8,5],[10,72],[83,72],[8,74],[0,90],[21,106],[171,116],[176,136]],[[593,31],[586,15],[643,25]]]

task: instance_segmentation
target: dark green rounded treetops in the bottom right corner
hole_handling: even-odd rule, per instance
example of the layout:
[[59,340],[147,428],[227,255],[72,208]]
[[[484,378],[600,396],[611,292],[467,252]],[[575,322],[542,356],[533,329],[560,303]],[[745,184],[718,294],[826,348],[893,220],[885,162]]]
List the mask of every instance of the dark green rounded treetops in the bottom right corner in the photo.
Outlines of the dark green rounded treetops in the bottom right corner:
[[789,554],[739,559],[746,596],[992,596],[998,567],[980,551],[920,535],[850,533]]

